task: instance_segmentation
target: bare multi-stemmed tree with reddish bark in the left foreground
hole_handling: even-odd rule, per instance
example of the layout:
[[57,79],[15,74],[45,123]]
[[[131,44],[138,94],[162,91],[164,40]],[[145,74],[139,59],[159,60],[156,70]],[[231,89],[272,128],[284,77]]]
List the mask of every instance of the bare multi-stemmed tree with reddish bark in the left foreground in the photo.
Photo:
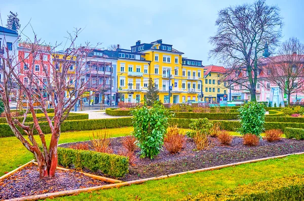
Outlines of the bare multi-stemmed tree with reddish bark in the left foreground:
[[[0,95],[4,103],[7,122],[15,136],[34,154],[39,165],[41,177],[54,177],[58,160],[57,145],[60,136],[60,126],[68,117],[70,110],[77,104],[81,95],[87,90],[87,82],[90,81],[88,80],[84,83],[78,82],[87,73],[86,60],[89,53],[87,50],[90,49],[75,46],[75,39],[79,31],[77,29],[74,34],[69,34],[68,40],[70,45],[64,52],[62,59],[55,57],[55,48],[58,45],[54,45],[53,47],[45,45],[48,48],[42,51],[41,45],[43,42],[37,39],[36,35],[33,41],[27,39],[25,42],[29,58],[32,59],[30,60],[30,64],[28,64],[28,69],[22,72],[27,77],[26,82],[19,79],[19,76],[21,74],[20,64],[25,64],[25,59],[27,58],[14,57],[9,54],[7,48],[6,57],[0,55],[4,66],[4,78],[3,83],[0,83]],[[48,65],[45,65],[42,57],[46,51],[53,56],[53,61],[49,61]],[[35,62],[39,62],[43,68],[46,75],[44,79],[35,73]],[[71,65],[75,65],[73,72],[71,72]],[[20,91],[22,91],[24,99],[27,102],[27,109],[23,114],[23,120],[14,118],[11,114],[9,94],[16,87],[15,85],[21,89]],[[47,112],[48,103],[51,103],[54,107],[54,114],[52,116]],[[39,121],[36,115],[37,111],[42,111],[51,130],[51,140],[48,145],[41,121]],[[25,123],[29,114],[33,118],[32,124]],[[22,135],[24,133],[28,139]],[[34,133],[39,135],[42,147],[34,139]]]

